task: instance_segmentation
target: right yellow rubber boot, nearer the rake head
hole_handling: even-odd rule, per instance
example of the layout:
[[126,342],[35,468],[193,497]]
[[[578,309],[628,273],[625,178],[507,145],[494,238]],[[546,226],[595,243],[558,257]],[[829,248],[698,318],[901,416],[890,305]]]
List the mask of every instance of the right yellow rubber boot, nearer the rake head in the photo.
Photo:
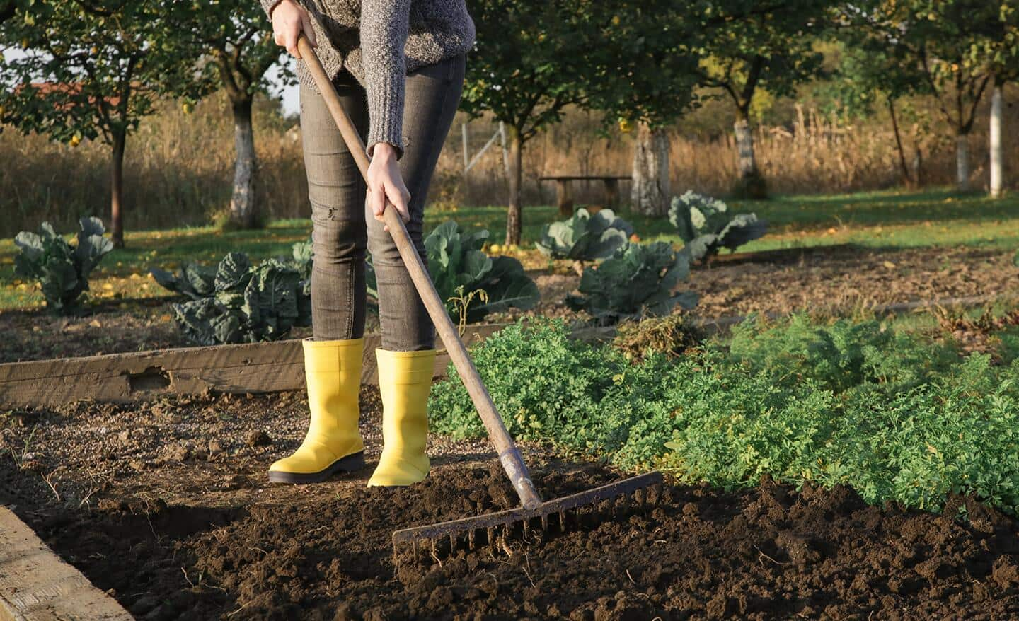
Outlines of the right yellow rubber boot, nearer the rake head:
[[428,476],[428,393],[435,350],[376,349],[382,397],[382,455],[368,486],[409,486]]

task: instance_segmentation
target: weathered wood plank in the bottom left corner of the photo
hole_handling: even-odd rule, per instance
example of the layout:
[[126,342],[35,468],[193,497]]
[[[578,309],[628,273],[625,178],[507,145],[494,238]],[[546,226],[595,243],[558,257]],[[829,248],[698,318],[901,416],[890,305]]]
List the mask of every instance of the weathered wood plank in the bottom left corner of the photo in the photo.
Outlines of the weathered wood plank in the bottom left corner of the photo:
[[129,621],[113,598],[0,507],[0,621]]

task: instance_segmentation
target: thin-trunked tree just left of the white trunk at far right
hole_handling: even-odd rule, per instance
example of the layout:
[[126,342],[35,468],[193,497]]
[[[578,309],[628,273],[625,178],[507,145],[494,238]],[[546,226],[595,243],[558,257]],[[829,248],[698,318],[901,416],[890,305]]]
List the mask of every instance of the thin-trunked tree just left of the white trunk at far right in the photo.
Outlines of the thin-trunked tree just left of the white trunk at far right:
[[969,188],[969,133],[991,79],[977,42],[993,33],[994,3],[986,0],[871,0],[844,16],[876,45],[902,59],[934,98],[956,138],[956,182]]

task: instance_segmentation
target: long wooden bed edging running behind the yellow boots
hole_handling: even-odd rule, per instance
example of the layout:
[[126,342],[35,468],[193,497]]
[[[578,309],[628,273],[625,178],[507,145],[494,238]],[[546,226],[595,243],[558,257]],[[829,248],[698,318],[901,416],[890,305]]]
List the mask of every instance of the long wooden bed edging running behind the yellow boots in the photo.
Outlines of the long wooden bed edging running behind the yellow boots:
[[[930,301],[872,306],[878,316],[902,315],[935,305],[978,306],[1002,296],[979,295]],[[769,319],[781,316],[769,314]],[[707,334],[725,333],[745,317],[700,319],[695,323]],[[468,345],[483,341],[506,324],[468,326]],[[604,341],[613,327],[578,328],[575,338]],[[362,381],[377,384],[375,348],[378,335],[365,336]],[[435,375],[445,375],[449,356],[440,349]],[[161,394],[204,392],[260,393],[300,390],[305,386],[301,340],[270,343],[181,347],[131,353],[109,353],[77,358],[56,358],[0,364],[0,407],[55,406],[75,399],[128,403]]]

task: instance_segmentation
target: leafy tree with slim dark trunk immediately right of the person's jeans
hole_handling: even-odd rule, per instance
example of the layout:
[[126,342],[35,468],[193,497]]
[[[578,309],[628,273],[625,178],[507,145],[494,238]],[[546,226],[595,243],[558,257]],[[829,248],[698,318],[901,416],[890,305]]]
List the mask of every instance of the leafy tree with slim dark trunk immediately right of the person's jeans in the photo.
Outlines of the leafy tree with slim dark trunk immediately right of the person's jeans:
[[477,51],[468,63],[461,107],[490,113],[506,126],[509,207],[506,243],[520,243],[521,166],[528,140],[558,121],[565,108],[586,105],[590,56],[608,24],[582,0],[472,0]]

